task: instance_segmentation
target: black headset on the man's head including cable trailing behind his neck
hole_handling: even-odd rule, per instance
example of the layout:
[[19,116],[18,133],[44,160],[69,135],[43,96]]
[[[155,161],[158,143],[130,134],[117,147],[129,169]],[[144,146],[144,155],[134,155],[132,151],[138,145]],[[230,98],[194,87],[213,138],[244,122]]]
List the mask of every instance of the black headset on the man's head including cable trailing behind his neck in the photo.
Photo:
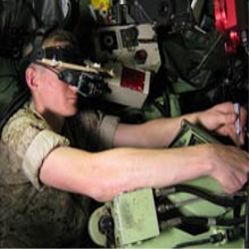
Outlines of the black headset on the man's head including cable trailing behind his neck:
[[[44,40],[56,29],[56,27],[40,28],[31,37],[31,41],[27,42],[27,47],[30,46],[31,51],[23,56],[20,60],[19,71],[23,89],[0,113],[0,133],[8,121],[8,119],[29,99],[30,92],[26,86],[25,70],[31,64],[44,66],[55,72],[63,83],[77,87],[77,92],[84,98],[100,97],[105,92],[110,92],[110,89],[105,82],[108,76],[106,71],[88,70],[82,71],[73,68],[83,68],[83,59],[80,56],[80,50],[76,42],[65,47],[48,47],[43,48]],[[28,49],[27,49],[28,50]],[[43,61],[48,60],[52,64],[46,64]],[[60,65],[66,65],[60,67]],[[67,68],[70,65],[71,68]],[[82,65],[82,66],[81,66]],[[59,70],[57,70],[59,69]],[[91,69],[91,70],[90,70]]]

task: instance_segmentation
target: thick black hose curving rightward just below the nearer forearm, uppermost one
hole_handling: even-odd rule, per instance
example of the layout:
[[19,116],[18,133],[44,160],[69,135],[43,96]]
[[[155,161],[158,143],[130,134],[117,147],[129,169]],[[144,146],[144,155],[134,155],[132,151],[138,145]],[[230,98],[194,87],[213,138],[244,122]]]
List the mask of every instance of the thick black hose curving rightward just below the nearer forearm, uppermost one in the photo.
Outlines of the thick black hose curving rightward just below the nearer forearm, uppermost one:
[[241,205],[245,201],[244,197],[234,199],[234,198],[231,198],[230,196],[225,197],[225,196],[215,195],[215,194],[208,193],[204,190],[200,190],[197,187],[184,185],[184,184],[179,184],[172,188],[160,189],[161,195],[169,195],[169,194],[173,194],[177,192],[190,193],[190,194],[199,196],[207,201],[210,201],[214,204],[224,206],[224,207],[238,206],[238,205]]

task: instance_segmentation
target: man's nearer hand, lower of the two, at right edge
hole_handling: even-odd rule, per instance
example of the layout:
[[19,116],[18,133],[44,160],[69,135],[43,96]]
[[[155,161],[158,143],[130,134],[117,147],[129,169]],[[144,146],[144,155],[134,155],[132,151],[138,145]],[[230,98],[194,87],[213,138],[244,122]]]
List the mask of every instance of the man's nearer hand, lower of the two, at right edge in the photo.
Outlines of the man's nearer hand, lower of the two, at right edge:
[[241,189],[248,180],[249,154],[234,146],[209,144],[210,176],[216,179],[227,193]]

